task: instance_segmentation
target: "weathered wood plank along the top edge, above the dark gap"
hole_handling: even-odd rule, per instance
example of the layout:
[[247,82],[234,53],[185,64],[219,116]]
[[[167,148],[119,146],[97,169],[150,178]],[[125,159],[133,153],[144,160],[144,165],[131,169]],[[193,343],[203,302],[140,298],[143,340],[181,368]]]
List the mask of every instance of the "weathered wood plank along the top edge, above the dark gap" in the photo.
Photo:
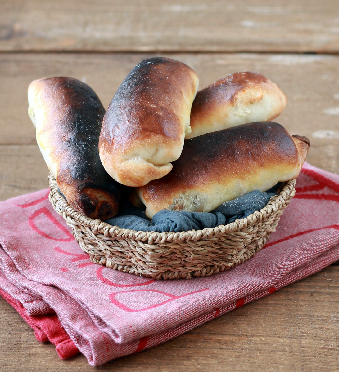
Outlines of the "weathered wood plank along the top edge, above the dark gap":
[[1,51],[338,52],[335,0],[13,0]]

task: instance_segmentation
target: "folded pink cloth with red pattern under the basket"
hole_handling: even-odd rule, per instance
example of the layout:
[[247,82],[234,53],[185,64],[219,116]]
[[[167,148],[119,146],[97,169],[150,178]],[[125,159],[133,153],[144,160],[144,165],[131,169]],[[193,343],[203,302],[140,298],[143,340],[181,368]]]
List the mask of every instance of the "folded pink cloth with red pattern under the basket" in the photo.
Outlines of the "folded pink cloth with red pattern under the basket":
[[339,260],[339,176],[304,164],[297,194],[255,257],[205,278],[156,281],[90,262],[47,189],[0,203],[0,294],[92,365],[170,340]]

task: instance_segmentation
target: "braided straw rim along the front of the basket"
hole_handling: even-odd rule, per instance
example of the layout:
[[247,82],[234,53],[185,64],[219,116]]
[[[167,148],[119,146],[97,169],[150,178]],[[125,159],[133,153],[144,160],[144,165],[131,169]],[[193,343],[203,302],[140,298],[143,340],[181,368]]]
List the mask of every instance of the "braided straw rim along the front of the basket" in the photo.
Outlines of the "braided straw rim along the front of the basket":
[[[248,225],[253,225],[258,220],[262,220],[263,218],[268,218],[273,213],[274,208],[272,205],[276,204],[278,207],[282,206],[288,199],[290,199],[293,195],[292,192],[295,186],[295,179],[289,180],[285,182],[285,185],[282,187],[281,191],[278,195],[274,195],[270,198],[269,202],[264,206],[264,208],[260,209],[260,211],[255,211],[250,214],[246,218],[236,219],[234,222],[230,222],[226,225],[219,225],[214,228],[204,228],[202,230],[187,230],[181,232],[171,232],[171,231],[136,231],[132,229],[124,229],[120,228],[116,225],[110,225],[107,222],[101,221],[100,219],[93,219],[91,217],[87,217],[80,212],[76,211],[67,200],[61,195],[58,190],[56,178],[53,176],[52,173],[48,175],[48,181],[50,184],[50,194],[49,200],[53,205],[54,210],[62,215],[64,219],[72,218],[75,222],[78,222],[86,227],[91,228],[95,234],[102,233],[105,237],[122,237],[122,238],[133,238],[134,240],[141,240],[141,241],[162,241],[162,242],[171,242],[173,240],[182,241],[182,240],[199,240],[202,237],[217,237],[218,235],[239,231],[242,228],[248,227]],[[55,202],[52,200],[55,199]],[[62,212],[58,212],[55,208],[55,204],[58,201],[62,201],[65,203],[66,208]],[[280,209],[280,208],[279,208]]]

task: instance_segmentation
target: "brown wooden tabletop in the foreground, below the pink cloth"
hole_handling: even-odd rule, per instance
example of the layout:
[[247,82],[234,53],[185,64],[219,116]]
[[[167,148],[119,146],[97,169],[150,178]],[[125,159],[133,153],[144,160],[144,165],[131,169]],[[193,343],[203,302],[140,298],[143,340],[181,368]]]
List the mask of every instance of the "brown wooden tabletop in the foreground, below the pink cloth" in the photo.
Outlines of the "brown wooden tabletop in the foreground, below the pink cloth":
[[[337,371],[339,267],[222,315],[101,371]],[[93,371],[83,356],[62,361],[54,347],[0,299],[0,371]],[[321,366],[321,368],[320,368]]]

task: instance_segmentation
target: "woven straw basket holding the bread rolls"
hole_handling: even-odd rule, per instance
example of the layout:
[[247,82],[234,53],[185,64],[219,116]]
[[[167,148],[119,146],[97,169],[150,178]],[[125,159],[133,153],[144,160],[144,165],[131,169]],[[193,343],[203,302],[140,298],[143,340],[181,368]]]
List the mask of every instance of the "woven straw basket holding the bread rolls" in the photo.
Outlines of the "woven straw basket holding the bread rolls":
[[247,261],[266,244],[295,194],[295,180],[291,180],[263,209],[247,218],[197,231],[147,232],[123,229],[80,214],[60,194],[51,174],[49,182],[53,208],[58,201],[65,203],[66,208],[58,213],[93,263],[154,279],[208,276]]

